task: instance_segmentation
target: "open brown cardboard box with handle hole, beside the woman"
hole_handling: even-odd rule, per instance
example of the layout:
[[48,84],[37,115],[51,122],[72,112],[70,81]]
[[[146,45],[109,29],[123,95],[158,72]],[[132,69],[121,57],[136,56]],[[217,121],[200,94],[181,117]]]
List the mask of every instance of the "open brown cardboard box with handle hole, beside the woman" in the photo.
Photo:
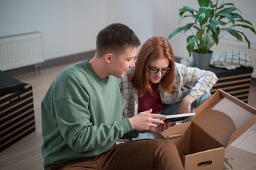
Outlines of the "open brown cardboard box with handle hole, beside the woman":
[[161,135],[177,146],[185,170],[223,170],[225,148],[256,123],[256,110],[218,90],[195,112],[191,123]]

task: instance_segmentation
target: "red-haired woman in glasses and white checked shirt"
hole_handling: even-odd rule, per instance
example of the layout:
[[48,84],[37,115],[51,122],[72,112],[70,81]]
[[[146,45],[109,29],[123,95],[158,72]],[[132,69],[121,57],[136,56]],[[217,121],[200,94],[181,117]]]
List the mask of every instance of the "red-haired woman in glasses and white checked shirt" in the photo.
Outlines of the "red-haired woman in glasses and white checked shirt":
[[[164,115],[189,113],[211,96],[218,78],[213,72],[174,62],[172,47],[165,38],[152,37],[140,48],[119,87],[126,101],[123,115],[130,118],[152,108]],[[182,91],[183,86],[192,86]]]

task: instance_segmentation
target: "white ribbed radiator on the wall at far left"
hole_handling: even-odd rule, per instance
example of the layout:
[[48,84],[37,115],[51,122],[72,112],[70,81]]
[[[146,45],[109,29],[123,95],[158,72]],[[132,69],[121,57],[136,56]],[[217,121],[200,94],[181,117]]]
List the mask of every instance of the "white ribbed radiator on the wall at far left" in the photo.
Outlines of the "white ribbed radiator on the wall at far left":
[[0,38],[0,70],[6,71],[44,62],[42,33]]

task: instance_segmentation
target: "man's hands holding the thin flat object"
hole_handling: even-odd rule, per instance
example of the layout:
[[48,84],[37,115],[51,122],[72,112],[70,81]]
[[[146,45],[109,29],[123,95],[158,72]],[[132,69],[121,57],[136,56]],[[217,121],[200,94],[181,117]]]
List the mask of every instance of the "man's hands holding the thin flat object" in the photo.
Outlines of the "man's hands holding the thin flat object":
[[[166,123],[164,123],[163,121],[165,120],[166,116],[160,114],[152,114],[151,112],[152,109],[145,112],[140,112],[132,118],[129,118],[130,124],[133,126],[133,130],[145,131],[155,128],[155,132],[157,132],[159,130],[162,130],[163,127],[160,126],[161,124],[165,124],[164,127],[166,127]],[[158,126],[160,128],[157,128]]]

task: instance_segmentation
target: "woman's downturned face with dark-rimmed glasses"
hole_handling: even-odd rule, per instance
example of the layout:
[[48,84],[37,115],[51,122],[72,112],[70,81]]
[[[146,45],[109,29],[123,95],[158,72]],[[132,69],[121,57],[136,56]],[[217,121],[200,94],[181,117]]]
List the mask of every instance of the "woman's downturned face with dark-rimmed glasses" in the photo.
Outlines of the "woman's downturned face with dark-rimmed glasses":
[[[162,74],[162,72],[168,71],[167,68],[169,67],[169,60],[167,58],[159,58],[157,60],[154,60],[150,62],[148,72],[157,72],[155,74],[150,73],[150,82],[153,84],[157,84],[161,81],[162,77],[165,76],[165,74]],[[151,69],[151,71],[150,71]]]

